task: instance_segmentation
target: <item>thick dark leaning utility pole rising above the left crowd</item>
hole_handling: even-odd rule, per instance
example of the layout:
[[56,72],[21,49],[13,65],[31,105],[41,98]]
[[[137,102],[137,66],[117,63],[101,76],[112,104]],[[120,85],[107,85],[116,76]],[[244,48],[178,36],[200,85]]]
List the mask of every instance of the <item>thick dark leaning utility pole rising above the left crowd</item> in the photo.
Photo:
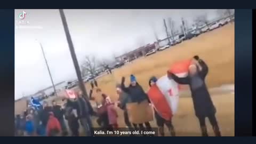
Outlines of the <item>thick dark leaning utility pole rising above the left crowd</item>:
[[77,78],[78,78],[79,87],[80,87],[81,91],[83,92],[85,100],[87,100],[87,103],[90,104],[89,97],[88,97],[88,94],[86,92],[84,82],[83,82],[83,79],[82,79],[81,70],[79,68],[79,64],[78,64],[78,61],[77,61],[77,58],[76,58],[76,53],[75,53],[75,50],[74,50],[73,42],[71,40],[71,36],[70,36],[70,33],[69,33],[67,20],[66,20],[64,11],[62,9],[60,9],[59,11],[60,11],[60,17],[61,17],[61,20],[62,20],[62,24],[63,24],[64,30],[65,30],[65,34],[66,34],[66,37],[67,37],[69,51],[70,51],[70,54],[71,54],[71,57],[72,57],[72,60],[73,60],[73,63],[74,63],[75,69],[76,69],[76,75],[77,75]]

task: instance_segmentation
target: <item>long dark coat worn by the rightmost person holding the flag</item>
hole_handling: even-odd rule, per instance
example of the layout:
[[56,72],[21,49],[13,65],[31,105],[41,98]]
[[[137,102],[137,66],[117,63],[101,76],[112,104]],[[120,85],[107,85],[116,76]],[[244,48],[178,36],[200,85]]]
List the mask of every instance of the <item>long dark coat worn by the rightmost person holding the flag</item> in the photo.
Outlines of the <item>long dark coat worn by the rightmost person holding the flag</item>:
[[211,100],[210,94],[205,84],[205,77],[208,73],[208,67],[203,60],[199,60],[202,70],[197,67],[195,76],[187,76],[179,78],[172,74],[172,78],[179,84],[188,84],[191,90],[191,95],[194,103],[194,109],[197,117],[209,116],[216,113],[216,109]]

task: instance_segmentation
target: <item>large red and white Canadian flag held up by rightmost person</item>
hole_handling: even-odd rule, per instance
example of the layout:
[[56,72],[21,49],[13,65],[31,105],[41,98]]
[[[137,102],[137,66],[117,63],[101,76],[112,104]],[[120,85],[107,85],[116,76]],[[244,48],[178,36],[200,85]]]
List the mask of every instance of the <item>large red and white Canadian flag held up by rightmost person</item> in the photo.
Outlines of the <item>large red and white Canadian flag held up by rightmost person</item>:
[[[191,60],[179,61],[174,63],[168,71],[179,77],[185,77],[188,75],[190,64]],[[166,120],[170,120],[177,112],[179,89],[179,84],[165,75],[159,78],[148,91],[148,97],[157,113]]]

